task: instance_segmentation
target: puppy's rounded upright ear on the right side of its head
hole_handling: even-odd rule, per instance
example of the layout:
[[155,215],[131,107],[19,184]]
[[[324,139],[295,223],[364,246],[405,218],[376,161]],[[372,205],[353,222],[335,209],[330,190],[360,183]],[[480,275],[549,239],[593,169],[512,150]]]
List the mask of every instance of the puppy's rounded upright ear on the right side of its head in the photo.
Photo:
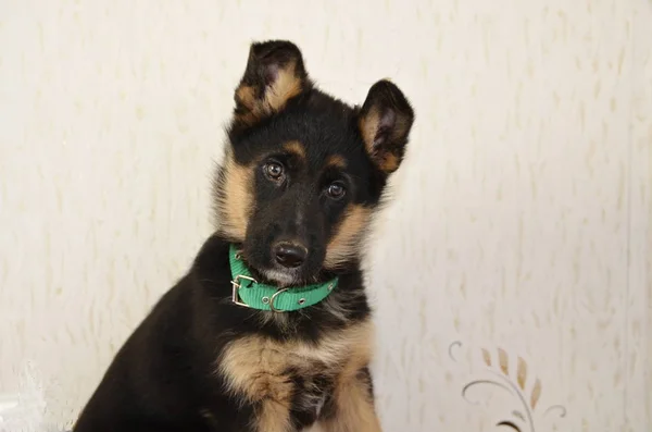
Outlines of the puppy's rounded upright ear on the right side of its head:
[[405,155],[414,111],[403,92],[389,81],[369,89],[358,125],[367,153],[386,174],[394,172]]

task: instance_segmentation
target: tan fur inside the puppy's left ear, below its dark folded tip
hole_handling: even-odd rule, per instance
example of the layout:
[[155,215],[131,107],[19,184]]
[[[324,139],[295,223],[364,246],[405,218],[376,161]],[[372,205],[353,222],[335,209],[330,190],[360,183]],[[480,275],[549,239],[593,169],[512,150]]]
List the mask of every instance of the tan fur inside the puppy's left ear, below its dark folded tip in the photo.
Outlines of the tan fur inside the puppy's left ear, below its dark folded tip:
[[288,63],[278,71],[276,81],[262,95],[256,95],[251,86],[241,85],[236,90],[236,100],[247,108],[247,112],[238,115],[238,120],[251,126],[265,116],[279,112],[288,100],[301,94],[302,83],[294,69],[294,63]]

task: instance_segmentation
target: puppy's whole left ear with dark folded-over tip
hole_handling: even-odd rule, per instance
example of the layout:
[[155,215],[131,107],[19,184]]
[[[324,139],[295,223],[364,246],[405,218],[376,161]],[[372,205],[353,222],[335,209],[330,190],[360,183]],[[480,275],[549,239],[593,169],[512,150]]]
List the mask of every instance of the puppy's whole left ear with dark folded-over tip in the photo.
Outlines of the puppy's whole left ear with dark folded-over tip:
[[248,127],[281,111],[310,86],[299,48],[286,40],[254,42],[236,89],[235,123]]

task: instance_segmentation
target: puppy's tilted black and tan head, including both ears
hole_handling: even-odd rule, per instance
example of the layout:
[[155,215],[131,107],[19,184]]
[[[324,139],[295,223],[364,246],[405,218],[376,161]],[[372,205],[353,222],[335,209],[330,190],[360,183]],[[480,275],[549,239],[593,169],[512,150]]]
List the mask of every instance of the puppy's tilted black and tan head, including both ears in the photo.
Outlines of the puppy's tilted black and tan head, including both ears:
[[236,89],[216,182],[218,231],[281,286],[359,259],[369,217],[403,159],[414,114],[381,81],[362,107],[314,88],[299,49],[254,44]]

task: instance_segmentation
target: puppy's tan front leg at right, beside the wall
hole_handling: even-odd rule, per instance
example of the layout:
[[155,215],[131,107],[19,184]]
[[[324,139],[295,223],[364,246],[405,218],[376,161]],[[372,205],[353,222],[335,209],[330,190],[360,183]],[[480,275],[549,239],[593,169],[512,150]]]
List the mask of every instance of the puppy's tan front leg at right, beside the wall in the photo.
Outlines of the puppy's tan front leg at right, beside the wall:
[[324,432],[381,432],[367,368],[353,377],[342,377],[331,403],[330,412],[326,412],[319,421]]

